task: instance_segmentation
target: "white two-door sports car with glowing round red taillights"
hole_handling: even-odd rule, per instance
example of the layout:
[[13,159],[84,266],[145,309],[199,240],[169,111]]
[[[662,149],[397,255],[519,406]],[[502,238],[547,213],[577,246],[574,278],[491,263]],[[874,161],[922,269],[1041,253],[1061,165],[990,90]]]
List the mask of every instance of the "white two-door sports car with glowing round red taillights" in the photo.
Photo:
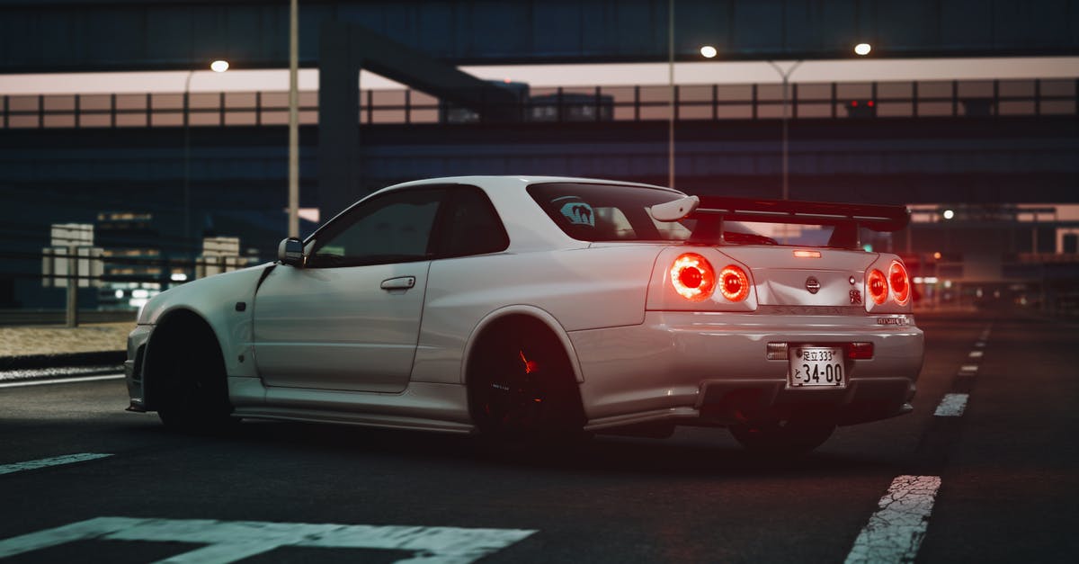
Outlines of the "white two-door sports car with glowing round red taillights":
[[697,198],[560,177],[380,190],[278,260],[160,294],[129,411],[480,432],[726,427],[808,451],[911,411],[912,287],[860,236],[902,206]]

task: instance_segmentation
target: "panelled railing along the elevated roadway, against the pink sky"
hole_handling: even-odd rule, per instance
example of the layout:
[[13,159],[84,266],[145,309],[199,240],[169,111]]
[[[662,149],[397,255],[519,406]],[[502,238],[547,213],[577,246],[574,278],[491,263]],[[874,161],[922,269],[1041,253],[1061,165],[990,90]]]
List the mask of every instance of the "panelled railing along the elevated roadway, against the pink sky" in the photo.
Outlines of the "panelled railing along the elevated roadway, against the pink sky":
[[[533,88],[506,107],[463,108],[415,90],[363,90],[359,122],[482,123],[1079,115],[1079,79]],[[497,110],[497,111],[494,111]],[[492,119],[491,116],[496,116]],[[0,129],[284,125],[287,92],[0,96]],[[318,123],[318,93],[300,93],[300,123]]]

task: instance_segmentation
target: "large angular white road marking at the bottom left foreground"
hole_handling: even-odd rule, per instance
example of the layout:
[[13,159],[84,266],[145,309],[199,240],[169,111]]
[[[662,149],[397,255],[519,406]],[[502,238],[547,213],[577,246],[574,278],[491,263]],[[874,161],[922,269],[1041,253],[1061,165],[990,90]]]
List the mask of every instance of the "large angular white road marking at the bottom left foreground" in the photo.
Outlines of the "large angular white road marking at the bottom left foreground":
[[400,563],[467,564],[535,533],[519,528],[420,527],[132,519],[103,516],[0,540],[0,559],[76,540],[142,540],[206,545],[162,562],[227,564],[278,547],[401,550]]

